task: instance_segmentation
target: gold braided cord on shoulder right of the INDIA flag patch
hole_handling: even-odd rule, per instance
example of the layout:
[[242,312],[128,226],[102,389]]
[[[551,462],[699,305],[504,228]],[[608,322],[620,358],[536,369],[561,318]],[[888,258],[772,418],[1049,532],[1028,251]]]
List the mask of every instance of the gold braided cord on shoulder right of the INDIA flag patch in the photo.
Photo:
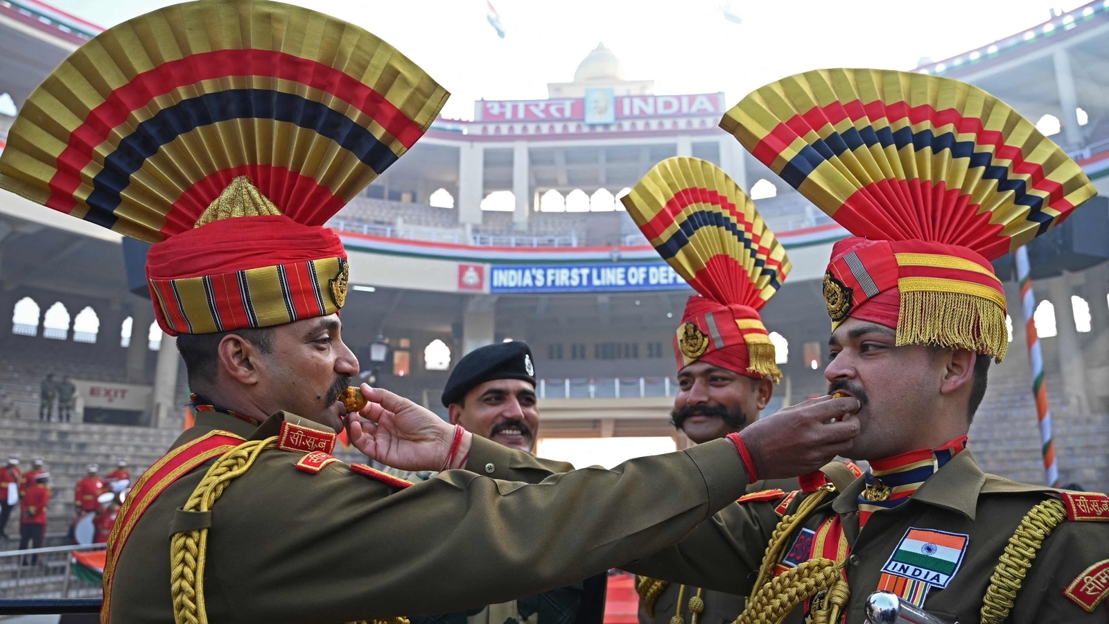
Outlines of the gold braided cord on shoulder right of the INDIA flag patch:
[[1009,616],[1020,584],[1044,540],[1066,520],[1064,504],[1057,499],[1048,499],[1032,507],[1020,521],[994,568],[994,575],[989,577],[989,587],[981,604],[983,624],[1000,624]]

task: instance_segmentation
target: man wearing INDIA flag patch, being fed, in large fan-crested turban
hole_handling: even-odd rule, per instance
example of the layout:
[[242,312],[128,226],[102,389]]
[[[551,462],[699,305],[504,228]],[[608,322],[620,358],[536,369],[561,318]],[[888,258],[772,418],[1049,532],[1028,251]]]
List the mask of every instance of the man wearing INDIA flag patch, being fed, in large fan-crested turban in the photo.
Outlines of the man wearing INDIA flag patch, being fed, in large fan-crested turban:
[[853,234],[824,276],[824,373],[862,403],[848,456],[869,470],[741,501],[630,568],[746,594],[741,623],[862,622],[876,591],[964,624],[1103,622],[1109,499],[984,474],[967,445],[1007,348],[990,260],[1092,197],[1081,169],[1004,102],[918,73],[793,76],[721,125]]

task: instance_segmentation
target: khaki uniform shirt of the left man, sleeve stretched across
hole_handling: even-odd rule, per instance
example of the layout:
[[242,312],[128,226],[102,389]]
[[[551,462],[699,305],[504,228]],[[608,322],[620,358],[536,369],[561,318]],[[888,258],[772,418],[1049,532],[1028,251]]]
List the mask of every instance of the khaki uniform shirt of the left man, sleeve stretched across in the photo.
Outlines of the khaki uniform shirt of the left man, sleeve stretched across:
[[[213,430],[255,433],[234,416],[201,412],[177,444]],[[747,481],[726,440],[542,479],[564,464],[475,436],[472,472],[447,471],[403,490],[342,462],[308,474],[295,467],[302,456],[261,453],[213,505],[204,577],[211,622],[336,624],[545,592],[674,544]],[[111,622],[173,622],[169,527],[211,463],[166,487],[135,523],[112,578]]]

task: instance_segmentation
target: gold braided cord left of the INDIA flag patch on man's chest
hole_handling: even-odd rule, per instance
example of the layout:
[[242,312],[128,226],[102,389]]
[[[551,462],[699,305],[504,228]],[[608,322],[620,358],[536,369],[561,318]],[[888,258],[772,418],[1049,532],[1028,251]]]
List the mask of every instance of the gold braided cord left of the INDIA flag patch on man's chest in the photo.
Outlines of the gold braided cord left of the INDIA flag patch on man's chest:
[[814,624],[836,624],[847,606],[849,591],[843,580],[843,562],[813,558],[774,577],[774,566],[782,557],[785,544],[801,523],[833,491],[825,485],[805,499],[797,511],[782,516],[771,535],[763,555],[759,580],[755,582],[747,606],[733,624],[776,624],[785,620],[798,604],[813,601],[811,617]]

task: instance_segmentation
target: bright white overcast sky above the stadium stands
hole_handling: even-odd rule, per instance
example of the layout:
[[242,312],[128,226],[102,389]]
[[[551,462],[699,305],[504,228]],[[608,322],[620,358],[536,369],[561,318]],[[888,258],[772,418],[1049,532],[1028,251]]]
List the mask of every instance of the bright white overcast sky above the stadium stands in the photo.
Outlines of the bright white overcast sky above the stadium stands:
[[[162,0],[47,0],[110,27]],[[542,99],[603,41],[629,79],[657,93],[723,91],[729,102],[821,67],[912,69],[986,46],[1050,18],[1064,0],[295,0],[355,22],[424,67],[452,95],[446,117],[472,119],[474,100]],[[721,6],[742,22],[724,19]]]

